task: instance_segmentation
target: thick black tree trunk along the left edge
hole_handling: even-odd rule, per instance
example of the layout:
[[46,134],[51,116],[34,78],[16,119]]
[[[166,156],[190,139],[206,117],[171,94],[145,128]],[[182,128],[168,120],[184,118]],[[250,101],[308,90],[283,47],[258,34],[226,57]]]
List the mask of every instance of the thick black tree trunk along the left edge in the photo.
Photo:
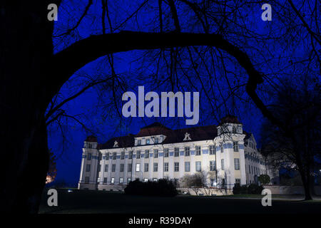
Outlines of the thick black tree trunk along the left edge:
[[44,113],[51,99],[55,1],[0,2],[1,211],[38,212],[48,170]]

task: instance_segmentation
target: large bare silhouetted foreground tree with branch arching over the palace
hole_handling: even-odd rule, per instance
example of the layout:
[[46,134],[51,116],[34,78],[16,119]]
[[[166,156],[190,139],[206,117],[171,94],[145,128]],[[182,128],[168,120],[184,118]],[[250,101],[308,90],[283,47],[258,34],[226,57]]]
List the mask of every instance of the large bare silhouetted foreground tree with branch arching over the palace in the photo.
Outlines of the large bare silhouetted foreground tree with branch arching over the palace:
[[[265,87],[277,88],[278,79],[289,74],[318,75],[319,1],[304,1],[302,6],[273,1],[277,33],[270,24],[264,31],[258,29],[260,17],[255,21],[249,15],[260,5],[248,1],[142,0],[123,9],[124,2],[34,0],[14,6],[1,1],[0,26],[6,31],[0,42],[1,145],[7,161],[2,167],[2,209],[38,211],[49,166],[44,152],[48,122],[63,117],[81,124],[54,102],[56,95],[74,73],[102,56],[110,69],[113,105],[126,89],[121,80],[126,74],[117,71],[115,55],[134,51],[141,68],[127,76],[145,69],[143,76],[158,88],[199,90],[210,106],[203,109],[215,120],[221,113],[237,112],[240,105],[256,106],[291,134],[267,108],[271,91]],[[55,26],[47,19],[49,4],[59,6]],[[146,66],[151,69],[148,75]],[[86,81],[71,97],[94,84]],[[131,86],[133,82],[127,88]],[[116,113],[119,108],[116,105]]]

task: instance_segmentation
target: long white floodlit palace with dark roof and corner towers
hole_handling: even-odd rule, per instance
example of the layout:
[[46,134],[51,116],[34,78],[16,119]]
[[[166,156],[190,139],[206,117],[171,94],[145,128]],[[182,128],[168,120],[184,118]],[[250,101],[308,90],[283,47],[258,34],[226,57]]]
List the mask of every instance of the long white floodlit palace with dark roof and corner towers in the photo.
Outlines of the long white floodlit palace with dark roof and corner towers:
[[238,118],[228,115],[218,126],[172,130],[160,123],[136,135],[111,138],[98,144],[89,136],[83,147],[78,189],[123,190],[139,178],[168,178],[179,183],[184,175],[205,172],[208,187],[232,189],[257,183],[272,171],[256,147],[253,134],[245,133]]

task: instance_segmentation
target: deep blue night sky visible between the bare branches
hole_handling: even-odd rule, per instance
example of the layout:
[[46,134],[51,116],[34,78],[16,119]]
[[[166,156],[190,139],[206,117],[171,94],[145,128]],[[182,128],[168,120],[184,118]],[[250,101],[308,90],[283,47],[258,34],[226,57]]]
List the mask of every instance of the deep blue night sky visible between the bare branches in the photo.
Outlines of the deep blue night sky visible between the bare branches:
[[[63,31],[66,31],[66,29],[76,24],[87,2],[88,1],[63,1],[59,8],[54,36],[63,33]],[[148,4],[144,5],[138,11],[137,17],[135,16],[128,19],[126,23],[122,23],[122,21],[126,20],[128,16],[131,16],[142,3],[143,1],[108,1],[108,7],[110,9],[109,16],[115,32],[121,30],[158,31],[158,9],[156,7],[158,1],[149,1]],[[283,4],[283,1],[280,1],[280,4]],[[295,4],[297,4],[297,1],[295,1]],[[308,53],[310,53],[310,50],[308,50],[307,46],[310,46],[310,41],[306,38],[304,28],[300,27],[302,31],[298,30],[295,32],[287,30],[287,26],[285,26],[287,19],[283,19],[282,11],[278,8],[280,6],[272,6],[274,13],[272,14],[272,21],[270,22],[260,19],[263,12],[260,6],[261,4],[255,3],[242,6],[235,15],[239,15],[240,18],[242,18],[240,21],[243,23],[243,27],[239,28],[237,26],[237,23],[240,23],[240,21],[231,21],[225,28],[225,37],[232,43],[236,43],[240,48],[243,48],[250,56],[251,61],[253,61],[258,71],[264,73],[265,83],[258,88],[258,93],[261,98],[268,103],[271,99],[270,91],[275,89],[280,78],[291,75],[293,81],[299,82],[301,80],[299,76],[304,75],[304,73],[310,73],[308,71],[305,72],[304,61],[302,64],[300,63],[301,65],[299,67],[296,66],[293,68],[292,66],[292,62],[301,61],[306,56],[309,56]],[[277,11],[277,9],[280,9],[280,12]],[[163,10],[168,10],[168,7],[164,6]],[[213,7],[213,11],[214,10],[215,6]],[[301,10],[308,11],[305,7],[302,7]],[[193,13],[186,11],[186,8],[181,4],[178,4],[178,16],[180,17],[182,31],[201,32],[201,27],[193,24],[193,20],[195,20]],[[305,19],[309,20],[308,14],[306,14],[306,16]],[[297,17],[295,17],[295,21],[297,21]],[[108,28],[107,19],[105,22]],[[165,31],[173,31],[173,19],[171,19],[170,16],[163,16],[163,23]],[[83,18],[83,21],[75,31],[72,31],[68,36],[54,38],[54,52],[61,51],[71,43],[82,38],[94,34],[101,34],[101,29],[100,1],[98,1],[98,3],[94,1],[94,4],[88,11],[88,16]],[[109,32],[108,29],[106,29],[107,33]],[[217,32],[217,28],[213,26],[210,28],[210,32]],[[256,36],[256,38],[252,38],[252,36]],[[198,50],[204,51],[205,49],[200,47]],[[161,91],[170,91],[171,88],[168,84],[156,86],[156,84],[153,83],[153,76],[156,75],[157,68],[157,58],[154,60],[153,57],[157,51],[148,53],[146,56],[143,56],[143,53],[144,51],[130,51],[128,53],[117,53],[113,56],[115,71],[128,86],[126,90],[137,93],[138,86],[145,86],[146,93],[150,90],[154,90],[158,92],[158,94],[160,94]],[[182,55],[188,56],[188,53],[183,52]],[[200,66],[202,62],[197,56],[196,53],[193,53],[193,58],[195,61],[198,61],[198,66]],[[212,68],[200,68],[200,77],[204,78],[206,91],[210,91],[210,88],[213,88],[209,95],[209,97],[213,99],[209,101],[205,90],[200,89],[200,121],[198,124],[216,125],[218,124],[218,120],[225,114],[234,114],[237,115],[243,123],[244,130],[254,133],[255,138],[259,141],[260,125],[263,121],[263,116],[245,93],[245,87],[240,86],[244,85],[248,80],[247,74],[233,58],[229,57],[226,53],[223,53],[224,67],[227,68],[228,72],[225,75],[224,72],[221,71],[223,68],[222,61],[215,59],[217,61],[215,61],[214,64],[210,63],[210,56],[205,54],[205,63],[203,64],[204,66],[208,64],[208,66]],[[182,60],[181,63],[185,65],[183,68],[188,68],[192,65],[189,60]],[[210,86],[211,80],[206,78],[208,72],[220,76],[220,79],[213,86]],[[196,91],[195,88],[201,87],[200,82],[195,80],[195,72],[193,69],[188,69],[186,73],[188,74],[187,76],[182,76],[182,72],[180,72],[180,78],[178,78],[176,82],[179,82],[181,87],[174,87],[174,92],[178,90],[182,92]],[[170,74],[165,67],[165,60],[162,60],[158,74],[163,78],[167,78]],[[76,91],[81,88],[81,83],[89,81],[88,78],[101,79],[108,75],[111,75],[111,68],[108,65],[107,58],[98,58],[96,61],[88,63],[70,78],[63,88],[61,88],[57,100],[63,100],[76,93]],[[192,79],[192,85],[188,82],[188,77]],[[193,88],[193,86],[195,86],[195,88]],[[234,98],[228,97],[229,86],[240,86],[240,88],[235,90],[237,96]],[[124,91],[121,90],[121,86],[119,85],[116,86],[116,88],[116,102],[118,103],[118,108],[121,110],[121,94]],[[220,88],[220,90],[218,90],[218,88]],[[225,102],[226,105],[222,105],[224,101],[220,96],[220,92],[223,93],[223,97],[227,100]],[[103,143],[108,140],[108,138],[116,135],[138,133],[139,128],[155,121],[161,122],[170,128],[188,127],[185,125],[183,118],[131,118],[131,121],[128,118],[119,118],[115,115],[115,107],[108,105],[111,98],[112,92],[109,88],[96,87],[86,90],[82,95],[63,105],[62,108],[66,110],[68,115],[76,116],[91,129],[91,132],[83,130],[81,125],[70,119],[63,120],[61,127],[56,125],[56,123],[49,127],[49,148],[58,156],[57,180],[65,180],[71,185],[76,185],[81,167],[83,140],[91,133],[98,136],[98,142]],[[212,110],[211,107],[213,107],[213,105],[218,107]],[[64,134],[64,138],[62,137],[62,133]]]

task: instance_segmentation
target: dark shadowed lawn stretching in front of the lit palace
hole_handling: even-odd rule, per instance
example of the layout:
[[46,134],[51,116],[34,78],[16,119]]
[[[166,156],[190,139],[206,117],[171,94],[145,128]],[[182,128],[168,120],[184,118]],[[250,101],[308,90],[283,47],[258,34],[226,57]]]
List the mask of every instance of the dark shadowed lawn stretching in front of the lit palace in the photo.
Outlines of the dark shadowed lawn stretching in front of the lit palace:
[[[242,197],[242,198],[240,198]],[[283,196],[284,197],[284,196]],[[58,207],[46,204],[44,192],[39,213],[166,213],[166,214],[248,214],[248,213],[319,213],[321,201],[302,202],[300,199],[273,200],[272,207],[263,207],[260,195],[238,195],[225,197],[144,197],[130,196],[121,192],[90,190],[58,190]],[[248,198],[248,199],[247,199]]]

